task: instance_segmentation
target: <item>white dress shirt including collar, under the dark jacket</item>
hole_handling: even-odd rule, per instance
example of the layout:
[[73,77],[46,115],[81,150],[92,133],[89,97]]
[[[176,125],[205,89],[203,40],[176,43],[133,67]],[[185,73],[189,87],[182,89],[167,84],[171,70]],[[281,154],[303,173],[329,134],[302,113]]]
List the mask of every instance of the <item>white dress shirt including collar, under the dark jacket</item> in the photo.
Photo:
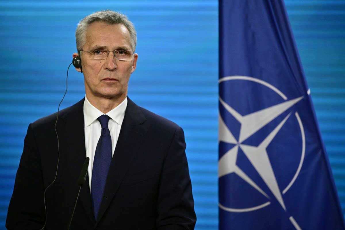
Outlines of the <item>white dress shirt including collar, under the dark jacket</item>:
[[[125,111],[127,108],[127,98],[122,101],[117,107],[106,113],[110,117],[108,122],[108,128],[111,136],[111,157],[114,155],[117,140],[119,138],[122,121],[125,117]],[[98,117],[104,113],[96,109],[86,98],[83,105],[84,112],[84,129],[85,129],[85,149],[86,156],[90,158],[89,162],[89,185],[91,191],[91,178],[92,178],[92,167],[93,159],[95,158],[95,152],[98,140],[101,136],[102,127]]]

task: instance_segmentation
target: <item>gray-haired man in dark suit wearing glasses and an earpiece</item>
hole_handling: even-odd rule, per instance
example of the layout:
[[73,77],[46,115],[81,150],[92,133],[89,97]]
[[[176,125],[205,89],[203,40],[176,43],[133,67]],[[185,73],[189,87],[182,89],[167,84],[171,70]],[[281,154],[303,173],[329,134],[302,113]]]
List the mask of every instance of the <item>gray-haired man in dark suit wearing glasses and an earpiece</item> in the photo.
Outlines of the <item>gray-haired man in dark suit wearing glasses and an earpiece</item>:
[[29,125],[6,227],[41,229],[47,216],[45,229],[67,229],[89,157],[71,229],[194,229],[183,130],[127,97],[133,24],[99,11],[80,21],[76,42],[86,97],[59,112],[59,145],[56,113]]

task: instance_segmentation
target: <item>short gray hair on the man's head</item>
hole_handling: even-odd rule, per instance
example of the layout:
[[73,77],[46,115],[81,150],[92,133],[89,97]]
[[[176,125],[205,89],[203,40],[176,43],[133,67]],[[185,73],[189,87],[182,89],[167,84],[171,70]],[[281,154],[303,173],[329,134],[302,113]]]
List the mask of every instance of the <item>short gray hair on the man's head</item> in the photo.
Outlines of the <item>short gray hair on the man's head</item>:
[[92,13],[79,21],[76,30],[76,42],[78,53],[85,45],[86,32],[92,22],[105,22],[107,24],[123,24],[129,32],[133,52],[135,51],[135,47],[137,46],[137,32],[135,31],[133,23],[128,20],[125,14],[118,13],[112,10],[102,10]]

